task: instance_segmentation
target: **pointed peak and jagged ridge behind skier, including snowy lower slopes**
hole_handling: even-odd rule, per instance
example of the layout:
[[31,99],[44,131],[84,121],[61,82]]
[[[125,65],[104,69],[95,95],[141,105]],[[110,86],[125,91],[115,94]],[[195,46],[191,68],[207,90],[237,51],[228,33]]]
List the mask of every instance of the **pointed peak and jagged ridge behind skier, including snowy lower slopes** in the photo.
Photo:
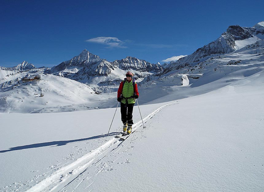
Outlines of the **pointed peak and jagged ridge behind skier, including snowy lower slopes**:
[[161,72],[163,68],[160,64],[151,64],[135,57],[109,62],[84,49],[80,55],[48,69],[46,73],[88,84],[96,92],[108,92],[117,91],[128,70],[135,74],[137,81],[141,81],[146,76]]

